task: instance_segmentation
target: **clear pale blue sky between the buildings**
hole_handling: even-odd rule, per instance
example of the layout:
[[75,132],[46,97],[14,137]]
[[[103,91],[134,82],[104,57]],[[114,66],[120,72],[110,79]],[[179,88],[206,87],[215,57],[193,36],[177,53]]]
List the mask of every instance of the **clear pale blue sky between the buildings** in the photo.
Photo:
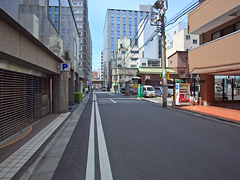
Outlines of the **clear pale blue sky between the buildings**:
[[[170,19],[189,3],[196,0],[168,0],[167,19]],[[138,10],[139,5],[153,5],[156,0],[88,0],[88,20],[92,36],[92,70],[100,68],[100,52],[103,49],[103,28],[107,9]],[[187,22],[187,16],[177,22]],[[167,27],[169,29],[170,27]]]

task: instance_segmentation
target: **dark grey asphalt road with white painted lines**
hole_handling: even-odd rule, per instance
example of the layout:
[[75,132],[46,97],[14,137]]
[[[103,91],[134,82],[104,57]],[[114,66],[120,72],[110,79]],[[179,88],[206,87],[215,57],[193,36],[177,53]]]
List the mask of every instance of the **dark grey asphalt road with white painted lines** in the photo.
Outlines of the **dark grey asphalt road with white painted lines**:
[[121,94],[96,97],[79,118],[52,179],[240,179],[237,125]]

